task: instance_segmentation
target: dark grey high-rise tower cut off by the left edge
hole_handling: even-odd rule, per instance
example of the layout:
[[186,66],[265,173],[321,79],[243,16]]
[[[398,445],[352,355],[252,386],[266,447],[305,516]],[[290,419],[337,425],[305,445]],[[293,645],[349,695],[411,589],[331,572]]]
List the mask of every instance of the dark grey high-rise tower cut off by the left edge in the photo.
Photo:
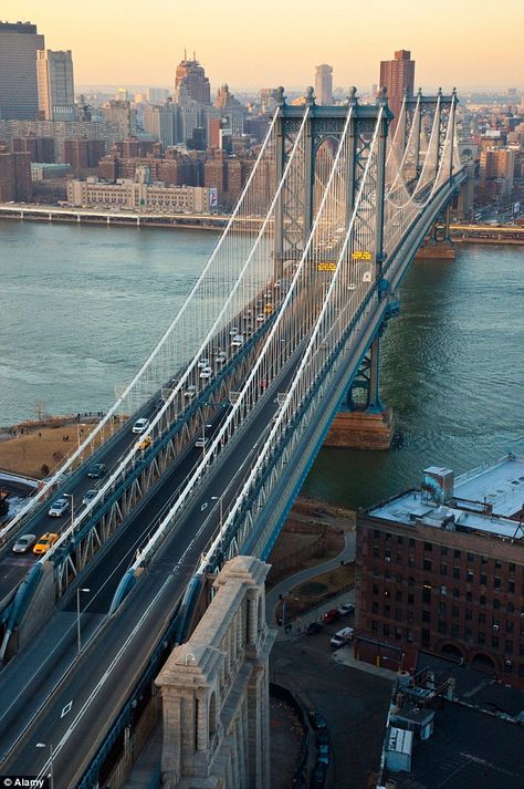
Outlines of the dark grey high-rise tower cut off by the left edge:
[[35,24],[0,22],[0,120],[36,117],[36,52],[44,46]]

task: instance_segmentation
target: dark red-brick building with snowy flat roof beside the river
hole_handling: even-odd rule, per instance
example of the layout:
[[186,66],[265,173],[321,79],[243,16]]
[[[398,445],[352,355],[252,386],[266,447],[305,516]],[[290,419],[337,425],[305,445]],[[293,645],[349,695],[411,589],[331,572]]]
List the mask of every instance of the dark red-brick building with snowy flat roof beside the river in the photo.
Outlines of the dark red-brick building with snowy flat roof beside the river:
[[[356,655],[410,668],[418,648],[524,687],[524,459],[425,471],[357,518]],[[521,519],[521,520],[520,520]]]

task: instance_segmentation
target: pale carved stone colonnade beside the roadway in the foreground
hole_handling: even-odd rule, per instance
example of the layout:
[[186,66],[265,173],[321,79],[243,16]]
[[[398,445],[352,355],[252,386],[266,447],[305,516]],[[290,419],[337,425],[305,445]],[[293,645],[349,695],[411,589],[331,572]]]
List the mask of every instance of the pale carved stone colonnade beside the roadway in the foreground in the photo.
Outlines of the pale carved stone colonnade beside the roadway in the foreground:
[[156,679],[163,698],[161,786],[269,789],[269,565],[228,562],[190,640]]

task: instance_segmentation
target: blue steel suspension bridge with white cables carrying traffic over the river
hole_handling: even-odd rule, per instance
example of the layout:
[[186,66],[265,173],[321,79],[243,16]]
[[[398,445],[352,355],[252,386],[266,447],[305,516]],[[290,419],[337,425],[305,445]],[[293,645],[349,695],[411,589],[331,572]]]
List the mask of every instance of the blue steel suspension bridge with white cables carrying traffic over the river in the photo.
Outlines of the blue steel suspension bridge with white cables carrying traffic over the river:
[[[384,94],[363,105],[352,90],[344,106],[318,106],[308,89],[291,106],[279,89],[256,163],[181,310],[96,430],[1,533],[9,550],[15,533],[45,523],[57,485],[80,501],[85,455],[107,465],[52,549],[0,589],[1,656],[20,651],[2,672],[8,681],[44,622],[56,621],[53,639],[72,645],[71,621],[59,614],[74,611],[75,590],[96,590],[85,605],[90,648],[82,654],[78,635],[65,679],[50,668],[61,693],[31,703],[27,688],[6,696],[11,730],[0,744],[10,770],[31,756],[28,733],[38,725],[46,741],[70,683],[88,676],[74,726],[52,736],[63,786],[94,786],[132,698],[169,642],[184,639],[206,575],[239,553],[269,556],[363,370],[367,406],[381,407],[380,334],[418,247],[467,177],[457,103],[454,90],[407,96],[389,138]],[[123,413],[148,421],[147,440],[127,423],[90,454]],[[101,677],[124,656],[115,702]],[[98,704],[119,715],[70,764]]]

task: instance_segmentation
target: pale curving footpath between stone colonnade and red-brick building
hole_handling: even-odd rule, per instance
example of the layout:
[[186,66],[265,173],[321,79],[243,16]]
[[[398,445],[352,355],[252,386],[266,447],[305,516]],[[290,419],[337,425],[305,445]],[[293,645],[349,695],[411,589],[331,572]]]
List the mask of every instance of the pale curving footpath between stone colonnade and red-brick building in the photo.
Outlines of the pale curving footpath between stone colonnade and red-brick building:
[[[290,575],[268,592],[265,598],[265,616],[272,627],[274,626],[275,611],[281,600],[281,594],[287,594],[294,586],[297,586],[304,581],[316,578],[316,575],[321,575],[323,572],[334,570],[342,563],[346,563],[355,559],[355,531],[346,531],[344,533],[344,543],[345,544],[340,553],[333,559],[328,559],[322,564],[306,568],[305,570],[296,572],[294,575]],[[297,617],[295,621],[283,623],[283,625],[279,627],[276,641],[292,641],[293,639],[296,639],[304,632],[311,622],[319,621],[326,611],[334,608],[336,609],[342,602],[354,603],[355,591],[350,590],[348,592],[342,592],[340,594],[331,598],[327,602],[307,611],[307,613]],[[285,633],[285,624],[287,624],[287,626],[291,625],[289,633]]]

